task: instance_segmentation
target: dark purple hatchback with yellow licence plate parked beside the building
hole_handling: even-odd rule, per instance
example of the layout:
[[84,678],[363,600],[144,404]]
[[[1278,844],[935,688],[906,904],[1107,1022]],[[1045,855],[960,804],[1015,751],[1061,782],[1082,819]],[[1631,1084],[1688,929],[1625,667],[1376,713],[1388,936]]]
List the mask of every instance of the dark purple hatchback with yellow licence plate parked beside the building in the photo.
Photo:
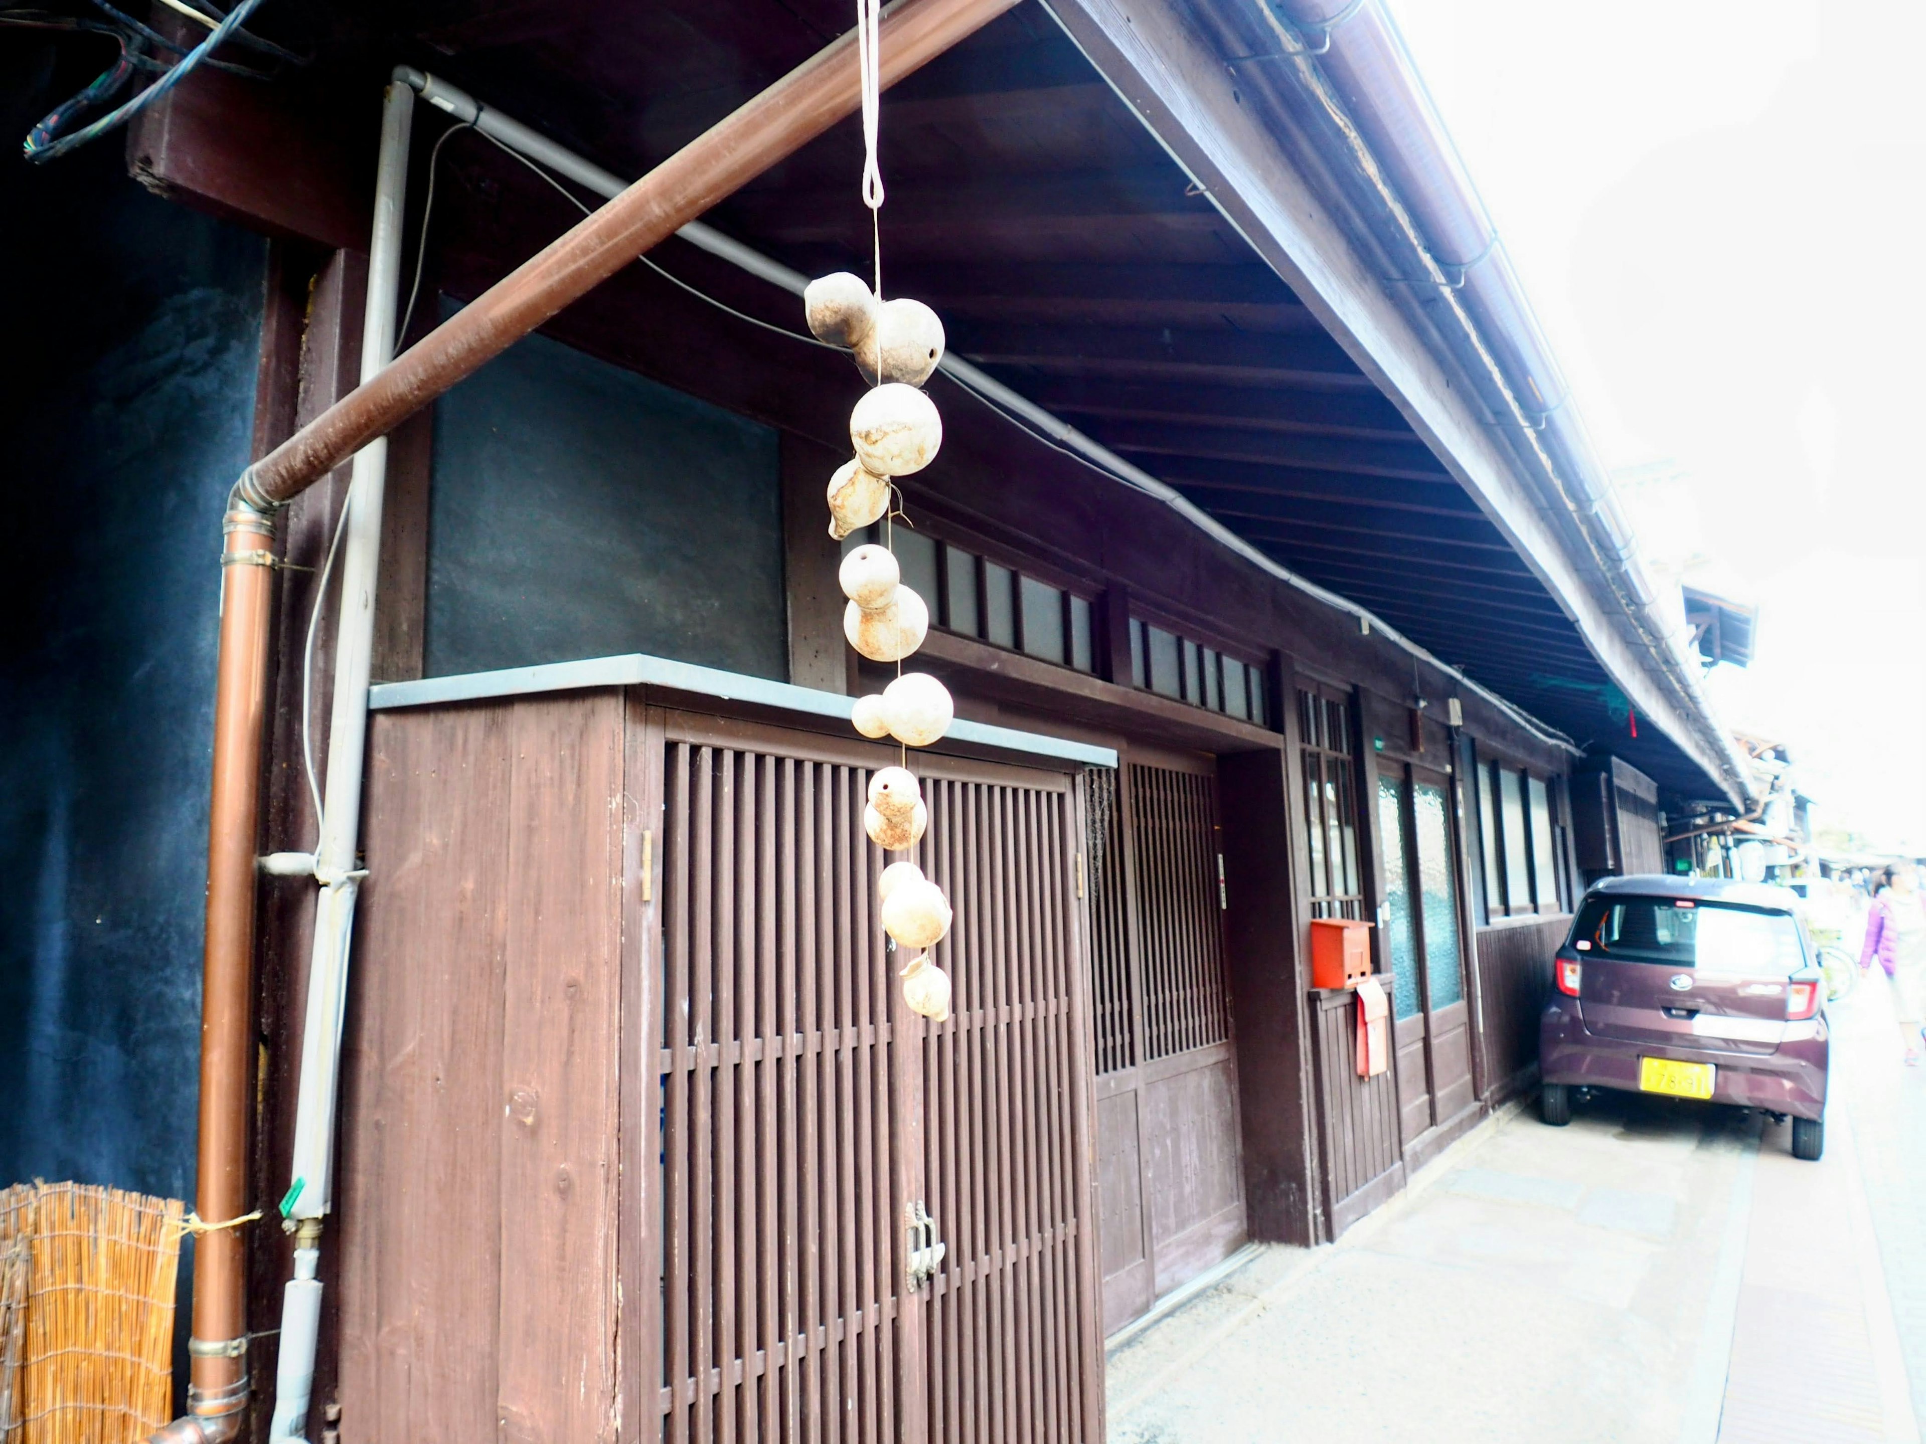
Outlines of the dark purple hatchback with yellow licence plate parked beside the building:
[[1545,1122],[1572,1090],[1737,1103],[1793,1121],[1793,1157],[1826,1147],[1826,982],[1783,888],[1606,878],[1585,893],[1539,1019]]

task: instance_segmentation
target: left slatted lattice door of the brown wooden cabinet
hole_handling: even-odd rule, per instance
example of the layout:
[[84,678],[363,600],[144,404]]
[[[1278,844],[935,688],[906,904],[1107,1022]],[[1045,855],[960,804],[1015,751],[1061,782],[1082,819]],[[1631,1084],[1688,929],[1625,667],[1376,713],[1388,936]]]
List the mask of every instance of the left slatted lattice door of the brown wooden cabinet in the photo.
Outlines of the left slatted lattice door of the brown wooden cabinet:
[[664,1440],[896,1436],[894,978],[867,780],[668,743],[651,1069]]

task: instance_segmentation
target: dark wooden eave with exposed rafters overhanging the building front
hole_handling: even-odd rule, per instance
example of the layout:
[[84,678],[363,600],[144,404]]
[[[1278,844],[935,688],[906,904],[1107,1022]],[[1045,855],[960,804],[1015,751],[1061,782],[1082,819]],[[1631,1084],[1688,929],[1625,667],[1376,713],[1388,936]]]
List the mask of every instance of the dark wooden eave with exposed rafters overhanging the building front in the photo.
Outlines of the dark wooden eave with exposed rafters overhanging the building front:
[[[1554,728],[1626,753],[1668,789],[1703,793],[1710,759],[1691,749],[1597,578],[1410,298],[1385,283],[1356,219],[1333,206],[1288,119],[1260,116],[1240,90],[1204,12],[1148,0],[1127,17],[1111,0],[1061,0],[1054,13],[1061,27],[1021,6],[886,96],[886,291],[930,300],[955,352],[1283,566]],[[218,123],[221,96],[247,83],[183,87],[133,137],[144,177],[281,233],[343,243],[354,231],[343,218],[366,214],[362,156],[395,62],[639,173],[847,25],[840,0],[620,12],[445,0],[324,15],[310,73],[281,94],[233,100],[250,116],[247,135]],[[431,133],[424,125],[424,160]],[[300,137],[306,168],[293,200],[266,187],[258,154],[287,135]],[[233,152],[225,169],[210,146]],[[707,219],[801,271],[865,271],[859,166],[851,121]],[[476,295],[570,218],[522,166],[456,141],[441,162],[431,279]],[[792,297],[682,243],[651,260],[749,314],[799,323]],[[551,331],[830,449],[861,385],[844,358],[718,316],[643,268]],[[1202,531],[1171,545],[1183,524],[1167,508],[953,383],[932,387],[946,451],[911,499],[934,514],[1028,531],[1073,566],[1260,649],[1317,635],[1356,645],[1352,618]],[[1408,691],[1410,660],[1389,649],[1364,670],[1381,670],[1391,695]],[[1610,722],[1620,693],[1637,709],[1637,741]]]

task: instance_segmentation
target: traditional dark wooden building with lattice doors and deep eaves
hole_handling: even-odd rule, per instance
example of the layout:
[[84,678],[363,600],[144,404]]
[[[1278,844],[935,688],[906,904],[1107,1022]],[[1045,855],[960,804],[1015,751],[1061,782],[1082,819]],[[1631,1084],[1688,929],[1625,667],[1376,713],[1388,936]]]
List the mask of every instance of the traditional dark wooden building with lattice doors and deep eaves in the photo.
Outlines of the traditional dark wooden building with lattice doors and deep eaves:
[[[1668,799],[1745,801],[1375,4],[903,0],[898,23],[938,12],[953,44],[884,98],[880,235],[888,293],[967,362],[930,381],[944,449],[892,535],[963,718],[923,761],[953,1017],[903,1011],[871,922],[861,787],[892,753],[847,722],[882,672],[846,660],[822,510],[863,381],[794,335],[786,289],[867,270],[842,121],[389,437],[314,1438],[1094,1444],[1106,1334],[1248,1240],[1337,1238],[1529,1086],[1575,897],[1645,866],[1627,816],[1656,845]],[[212,237],[146,289],[193,322],[227,285],[221,335],[254,358],[193,402],[250,441],[158,456],[193,504],[129,545],[168,556],[356,393],[385,81],[420,96],[401,331],[433,348],[599,177],[682,152],[849,15],[281,23],[308,64],[198,73],[127,137],[173,202],[139,206]],[[62,164],[10,173],[8,204],[117,183]],[[212,243],[241,283],[181,270]],[[141,325],[189,354],[191,325]],[[133,470],[104,476],[139,504]],[[277,514],[260,855],[318,826],[347,487]],[[202,580],[166,666],[212,695],[212,551]],[[314,915],[312,880],[260,880],[247,1199],[270,1209],[299,1192]],[[1354,993],[1310,980],[1312,924],[1342,918],[1391,995],[1375,1076]],[[135,1072],[191,1088],[181,1065]],[[289,1251],[247,1234],[262,1436]]]

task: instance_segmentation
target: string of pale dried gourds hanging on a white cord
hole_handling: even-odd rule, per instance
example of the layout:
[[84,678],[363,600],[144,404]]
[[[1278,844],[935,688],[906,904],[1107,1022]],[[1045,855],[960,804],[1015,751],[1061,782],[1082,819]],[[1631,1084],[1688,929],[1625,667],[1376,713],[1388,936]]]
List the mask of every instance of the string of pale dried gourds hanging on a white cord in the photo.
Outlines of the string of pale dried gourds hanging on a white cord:
[[[871,210],[874,277],[834,271],[803,291],[809,331],[844,347],[869,391],[849,414],[847,462],[828,483],[830,535],[844,541],[882,522],[882,545],[849,551],[838,572],[844,597],[844,635],[872,662],[896,662],[896,680],[882,693],[859,697],[851,714],[865,737],[894,737],[899,766],[880,768],[869,782],[863,830],[886,853],[907,853],[930,822],[923,787],[909,770],[909,749],[944,737],[955,720],[950,689],[928,672],[903,672],[903,658],[923,647],[930,630],[928,603],[903,585],[894,551],[896,479],[928,466],[944,445],[936,402],[921,391],[944,358],[944,323],[921,300],[882,297],[882,171],[876,162],[880,64],[880,0],[857,0],[857,67],[863,77],[863,204]],[[907,520],[907,518],[905,518]],[[930,949],[950,932],[944,890],[911,861],[890,863],[876,880],[882,930],[907,949],[903,999],[915,1013],[942,1022],[950,1017],[950,974]]]

